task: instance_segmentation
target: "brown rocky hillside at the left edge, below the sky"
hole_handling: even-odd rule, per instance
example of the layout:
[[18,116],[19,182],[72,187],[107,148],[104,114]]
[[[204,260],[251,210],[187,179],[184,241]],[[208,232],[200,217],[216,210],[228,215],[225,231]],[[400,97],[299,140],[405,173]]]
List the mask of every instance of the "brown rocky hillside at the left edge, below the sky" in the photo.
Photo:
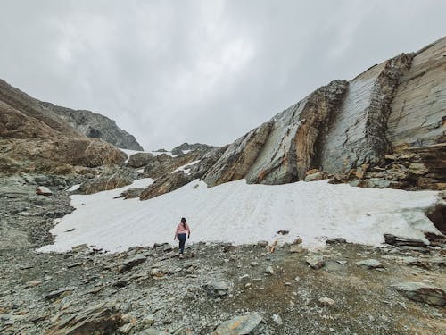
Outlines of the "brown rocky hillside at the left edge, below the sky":
[[87,138],[38,100],[0,80],[0,171],[69,173],[76,165],[96,167],[125,158],[116,147]]

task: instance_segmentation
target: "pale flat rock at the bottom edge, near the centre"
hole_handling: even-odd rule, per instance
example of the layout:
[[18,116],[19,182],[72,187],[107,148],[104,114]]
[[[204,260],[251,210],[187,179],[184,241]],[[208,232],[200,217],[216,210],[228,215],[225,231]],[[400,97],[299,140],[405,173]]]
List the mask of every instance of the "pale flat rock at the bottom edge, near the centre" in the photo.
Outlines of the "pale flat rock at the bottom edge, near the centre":
[[214,335],[249,335],[260,328],[262,317],[257,312],[235,316],[231,320],[222,322],[214,331]]

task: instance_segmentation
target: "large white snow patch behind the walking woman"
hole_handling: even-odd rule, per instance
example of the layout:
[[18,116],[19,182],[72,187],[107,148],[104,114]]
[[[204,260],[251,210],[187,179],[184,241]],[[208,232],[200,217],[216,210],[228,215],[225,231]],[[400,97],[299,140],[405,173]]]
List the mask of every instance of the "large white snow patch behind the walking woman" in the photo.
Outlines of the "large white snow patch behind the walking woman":
[[[136,180],[126,188],[151,182]],[[426,241],[424,231],[439,231],[425,217],[425,210],[442,201],[434,191],[354,188],[326,180],[285,185],[247,185],[237,180],[214,188],[194,180],[150,200],[113,199],[124,189],[71,196],[77,210],[51,230],[54,245],[38,251],[64,252],[87,243],[118,252],[155,242],[173,243],[183,216],[192,229],[190,242],[286,242],[300,236],[310,249],[338,237],[379,246],[384,233]],[[290,232],[278,236],[278,230]]]

